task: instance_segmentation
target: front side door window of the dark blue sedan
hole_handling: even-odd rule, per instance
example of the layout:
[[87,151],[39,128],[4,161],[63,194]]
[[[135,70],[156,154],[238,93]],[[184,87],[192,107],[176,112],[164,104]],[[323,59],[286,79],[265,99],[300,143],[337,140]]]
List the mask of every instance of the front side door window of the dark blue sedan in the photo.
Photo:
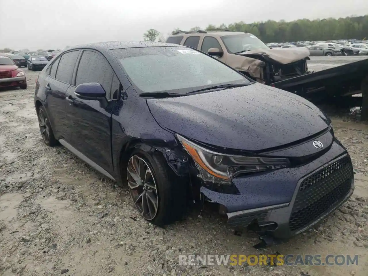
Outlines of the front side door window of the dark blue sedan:
[[113,69],[102,54],[84,51],[79,62],[75,86],[88,82],[98,82],[105,89],[106,97],[111,99],[113,75]]

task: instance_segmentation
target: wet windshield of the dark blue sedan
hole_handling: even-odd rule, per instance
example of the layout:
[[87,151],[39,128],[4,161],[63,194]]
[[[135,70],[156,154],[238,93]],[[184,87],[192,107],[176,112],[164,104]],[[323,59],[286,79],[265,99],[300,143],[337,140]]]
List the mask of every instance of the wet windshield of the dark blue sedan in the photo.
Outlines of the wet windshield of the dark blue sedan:
[[141,47],[111,50],[142,92],[188,93],[221,84],[250,84],[216,59],[185,47]]

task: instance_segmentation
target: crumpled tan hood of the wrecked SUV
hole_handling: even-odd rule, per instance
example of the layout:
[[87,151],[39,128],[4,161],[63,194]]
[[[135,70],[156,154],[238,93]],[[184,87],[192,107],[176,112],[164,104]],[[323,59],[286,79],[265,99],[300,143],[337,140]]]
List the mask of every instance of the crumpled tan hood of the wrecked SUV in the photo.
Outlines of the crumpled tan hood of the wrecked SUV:
[[309,50],[307,49],[265,49],[251,50],[239,53],[240,56],[252,57],[254,59],[265,59],[281,64],[289,64],[302,59],[309,59]]

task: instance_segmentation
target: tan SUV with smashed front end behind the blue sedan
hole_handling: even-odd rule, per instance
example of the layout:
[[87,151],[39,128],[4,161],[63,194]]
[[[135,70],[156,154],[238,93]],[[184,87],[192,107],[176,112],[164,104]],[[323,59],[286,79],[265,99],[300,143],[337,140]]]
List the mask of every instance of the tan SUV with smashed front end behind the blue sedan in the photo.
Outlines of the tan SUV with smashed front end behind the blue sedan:
[[166,42],[201,50],[264,84],[308,72],[307,49],[270,49],[251,33],[228,30],[177,31]]

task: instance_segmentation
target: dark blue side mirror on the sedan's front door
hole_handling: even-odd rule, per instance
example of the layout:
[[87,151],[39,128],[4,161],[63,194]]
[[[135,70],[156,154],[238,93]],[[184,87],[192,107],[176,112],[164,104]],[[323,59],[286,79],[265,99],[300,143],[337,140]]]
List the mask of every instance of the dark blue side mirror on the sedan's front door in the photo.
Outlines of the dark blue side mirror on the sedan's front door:
[[74,91],[75,96],[83,100],[97,100],[102,108],[106,108],[107,102],[106,91],[98,82],[88,82],[79,84]]

